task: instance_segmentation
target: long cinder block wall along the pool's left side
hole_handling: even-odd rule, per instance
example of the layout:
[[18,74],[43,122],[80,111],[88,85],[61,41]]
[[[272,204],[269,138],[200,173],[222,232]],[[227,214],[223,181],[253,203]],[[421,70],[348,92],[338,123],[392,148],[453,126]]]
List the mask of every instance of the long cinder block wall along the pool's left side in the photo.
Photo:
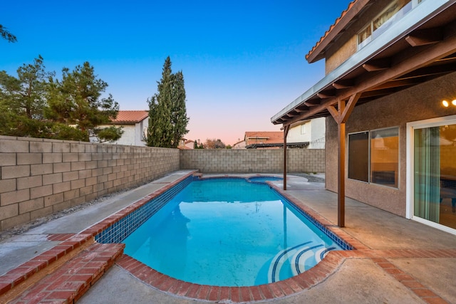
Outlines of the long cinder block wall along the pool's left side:
[[0,231],[179,169],[179,150],[0,136]]

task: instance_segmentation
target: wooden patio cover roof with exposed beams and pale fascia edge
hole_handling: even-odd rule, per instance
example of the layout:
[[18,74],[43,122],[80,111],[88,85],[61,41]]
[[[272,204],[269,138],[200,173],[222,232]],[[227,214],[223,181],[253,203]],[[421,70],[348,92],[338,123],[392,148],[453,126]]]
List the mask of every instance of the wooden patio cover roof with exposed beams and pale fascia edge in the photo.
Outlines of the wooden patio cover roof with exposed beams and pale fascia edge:
[[456,4],[424,1],[312,88],[271,117],[275,125],[331,115],[328,107],[361,93],[356,105],[456,71]]

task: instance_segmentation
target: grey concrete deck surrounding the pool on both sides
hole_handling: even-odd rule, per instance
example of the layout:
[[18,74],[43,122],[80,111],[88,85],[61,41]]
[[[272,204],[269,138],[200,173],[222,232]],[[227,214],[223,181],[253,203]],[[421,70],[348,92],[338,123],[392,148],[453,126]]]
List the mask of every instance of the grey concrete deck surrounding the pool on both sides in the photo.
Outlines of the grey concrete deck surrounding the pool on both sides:
[[[77,234],[188,171],[175,172],[138,189],[50,221],[0,243],[0,276],[56,246],[52,234]],[[207,177],[207,175],[204,175]],[[281,182],[274,182],[278,187]],[[326,221],[337,223],[337,196],[322,183],[289,175],[286,194]],[[299,293],[256,303],[456,303],[456,236],[386,211],[346,200],[346,228],[356,243],[335,271]],[[245,299],[243,299],[245,301]],[[247,300],[248,301],[248,300]],[[119,263],[78,303],[208,303],[165,293],[144,283]]]

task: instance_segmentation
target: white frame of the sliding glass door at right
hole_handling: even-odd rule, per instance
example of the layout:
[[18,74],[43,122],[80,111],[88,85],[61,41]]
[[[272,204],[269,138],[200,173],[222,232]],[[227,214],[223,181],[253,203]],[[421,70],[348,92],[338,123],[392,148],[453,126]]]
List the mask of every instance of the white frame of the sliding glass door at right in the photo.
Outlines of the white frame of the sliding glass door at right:
[[415,122],[407,122],[406,126],[406,145],[407,145],[407,157],[406,157],[406,191],[405,191],[405,200],[406,200],[406,207],[405,207],[405,218],[412,219],[413,221],[418,221],[422,224],[426,224],[427,226],[432,226],[435,229],[439,229],[442,231],[446,231],[450,234],[456,235],[456,229],[452,229],[450,227],[437,224],[433,221],[427,221],[426,219],[422,219],[418,216],[413,216],[413,131],[415,129],[424,129],[425,127],[440,127],[445,122],[454,122],[456,124],[456,115],[444,116],[444,117],[437,117],[431,118],[428,120],[418,120]]

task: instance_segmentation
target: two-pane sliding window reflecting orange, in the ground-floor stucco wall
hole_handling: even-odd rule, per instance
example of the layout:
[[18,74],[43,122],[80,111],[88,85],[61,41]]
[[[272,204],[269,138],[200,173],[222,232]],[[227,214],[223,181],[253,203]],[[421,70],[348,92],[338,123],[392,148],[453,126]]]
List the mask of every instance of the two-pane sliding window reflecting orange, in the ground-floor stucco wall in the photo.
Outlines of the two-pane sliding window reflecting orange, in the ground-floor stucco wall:
[[348,135],[348,178],[398,188],[398,127]]

